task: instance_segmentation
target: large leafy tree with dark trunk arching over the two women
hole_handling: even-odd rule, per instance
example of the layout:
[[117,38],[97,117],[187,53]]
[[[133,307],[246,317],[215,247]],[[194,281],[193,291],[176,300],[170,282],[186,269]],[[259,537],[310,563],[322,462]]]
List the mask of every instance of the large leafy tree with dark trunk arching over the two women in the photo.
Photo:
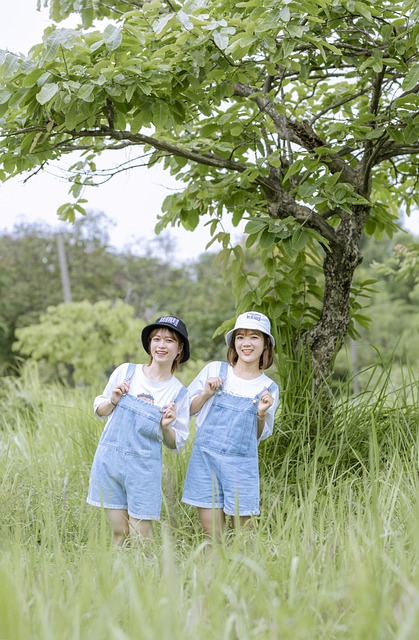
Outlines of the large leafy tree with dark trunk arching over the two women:
[[[318,386],[363,322],[350,313],[362,234],[391,235],[418,204],[416,0],[112,5],[51,0],[53,19],[79,11],[83,27],[47,29],[28,58],[2,53],[0,177],[78,152],[75,202],[59,210],[71,219],[98,154],[162,162],[182,188],[161,227],[212,216],[238,310],[266,311]],[[227,214],[248,219],[260,277],[219,231]]]

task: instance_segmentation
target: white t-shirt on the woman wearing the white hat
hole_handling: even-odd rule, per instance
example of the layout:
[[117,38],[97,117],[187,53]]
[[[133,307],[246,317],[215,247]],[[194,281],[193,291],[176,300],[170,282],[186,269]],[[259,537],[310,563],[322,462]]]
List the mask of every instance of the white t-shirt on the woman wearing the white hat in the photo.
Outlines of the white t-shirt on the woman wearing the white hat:
[[[221,362],[210,362],[209,364],[205,365],[200,373],[198,373],[195,380],[193,380],[188,387],[190,402],[192,402],[195,396],[198,396],[203,392],[205,388],[205,382],[208,380],[208,378],[218,378],[218,376],[220,375],[220,367]],[[241,396],[243,398],[254,398],[258,393],[263,391],[263,389],[268,389],[271,384],[272,380],[265,373],[261,373],[260,376],[254,378],[253,380],[244,380],[243,378],[239,378],[234,373],[234,367],[229,364],[227,367],[227,377],[223,384],[223,390],[226,393],[231,393],[235,396]],[[265,425],[263,427],[262,435],[260,436],[259,440],[265,440],[265,438],[268,438],[270,435],[272,435],[275,411],[279,401],[278,386],[275,385],[275,389],[273,390],[272,395],[274,397],[274,401],[272,406],[269,407],[268,411],[266,412]],[[203,407],[196,414],[197,418],[195,426],[197,429],[199,429],[199,427],[203,424],[213,401],[214,396],[208,398]]]

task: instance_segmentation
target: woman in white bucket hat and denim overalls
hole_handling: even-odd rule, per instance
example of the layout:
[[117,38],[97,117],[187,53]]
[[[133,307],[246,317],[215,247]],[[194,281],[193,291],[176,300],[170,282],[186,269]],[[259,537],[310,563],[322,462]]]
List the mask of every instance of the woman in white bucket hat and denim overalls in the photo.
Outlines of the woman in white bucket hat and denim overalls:
[[238,527],[260,513],[257,449],[272,434],[279,399],[277,384],[264,373],[275,346],[269,319],[259,311],[242,313],[225,338],[227,362],[207,364],[188,387],[197,432],[182,497],[217,540],[226,516]]

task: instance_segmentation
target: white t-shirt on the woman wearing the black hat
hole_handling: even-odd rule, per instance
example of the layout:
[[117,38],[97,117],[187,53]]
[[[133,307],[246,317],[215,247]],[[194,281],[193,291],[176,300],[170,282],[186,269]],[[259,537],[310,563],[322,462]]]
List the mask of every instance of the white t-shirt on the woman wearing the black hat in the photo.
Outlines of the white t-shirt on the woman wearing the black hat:
[[[105,429],[111,422],[114,412],[112,411],[109,416],[98,416],[97,408],[105,400],[110,400],[112,389],[126,379],[128,364],[128,362],[125,362],[113,371],[103,393],[100,396],[96,396],[93,401],[95,415],[98,418],[107,420]],[[164,407],[169,404],[169,402],[173,402],[181,387],[181,382],[179,382],[175,376],[172,376],[170,380],[149,380],[149,378],[144,375],[143,365],[138,364],[131,378],[129,394],[135,397],[143,396],[144,400],[151,402],[151,404]],[[185,393],[183,398],[176,403],[176,419],[170,425],[176,434],[176,451],[182,449],[189,436],[189,405],[188,393]],[[163,441],[161,428],[159,429],[158,438],[160,441]]]

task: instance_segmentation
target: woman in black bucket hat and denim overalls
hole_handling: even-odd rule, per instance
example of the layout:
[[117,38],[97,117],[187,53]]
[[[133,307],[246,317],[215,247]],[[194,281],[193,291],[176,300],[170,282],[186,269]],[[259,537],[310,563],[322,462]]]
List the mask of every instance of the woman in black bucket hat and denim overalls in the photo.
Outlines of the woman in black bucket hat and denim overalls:
[[104,508],[116,545],[128,536],[152,537],[162,503],[162,443],[178,452],[189,435],[189,395],[173,375],[189,359],[185,324],[161,316],[144,327],[141,341],[148,364],[121,364],[94,400],[106,425],[87,502]]

